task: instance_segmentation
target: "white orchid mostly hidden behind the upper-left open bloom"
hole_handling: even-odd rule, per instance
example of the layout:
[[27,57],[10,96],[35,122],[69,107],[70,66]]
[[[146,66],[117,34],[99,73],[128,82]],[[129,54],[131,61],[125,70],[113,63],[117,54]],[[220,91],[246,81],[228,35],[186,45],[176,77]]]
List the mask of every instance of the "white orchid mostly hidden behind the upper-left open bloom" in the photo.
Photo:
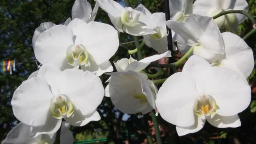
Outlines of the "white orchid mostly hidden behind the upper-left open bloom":
[[[74,5],[72,6],[72,19],[79,18],[85,21],[86,23],[90,21],[94,21],[94,18],[96,16],[96,13],[98,11],[99,5],[95,6],[93,11],[91,9],[91,4],[87,2],[87,0],[76,0]],[[67,26],[71,21],[71,18],[68,18],[64,25]],[[34,48],[35,41],[37,40],[37,37],[44,32],[47,29],[50,29],[51,27],[55,26],[56,24],[53,24],[51,22],[44,22],[40,24],[39,27],[35,29],[33,38],[32,38],[32,45]]]

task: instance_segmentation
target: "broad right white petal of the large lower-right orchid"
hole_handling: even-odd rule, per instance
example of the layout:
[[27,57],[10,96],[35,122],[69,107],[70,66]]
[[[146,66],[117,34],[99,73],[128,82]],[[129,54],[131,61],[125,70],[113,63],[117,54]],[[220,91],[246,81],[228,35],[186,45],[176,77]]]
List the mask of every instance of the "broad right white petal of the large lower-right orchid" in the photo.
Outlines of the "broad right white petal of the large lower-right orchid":
[[244,77],[221,67],[210,67],[204,73],[197,79],[197,91],[214,97],[219,107],[218,115],[237,115],[248,107],[251,87]]

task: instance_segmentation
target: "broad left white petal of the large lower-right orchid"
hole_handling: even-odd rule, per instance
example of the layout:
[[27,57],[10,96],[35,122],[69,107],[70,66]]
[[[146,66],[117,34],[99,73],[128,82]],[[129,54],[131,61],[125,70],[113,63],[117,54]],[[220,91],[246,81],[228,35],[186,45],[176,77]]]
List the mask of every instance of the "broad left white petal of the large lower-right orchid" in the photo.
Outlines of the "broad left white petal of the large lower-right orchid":
[[168,77],[156,99],[157,110],[164,120],[180,127],[195,124],[193,106],[198,96],[195,84],[195,79],[187,73],[177,72]]

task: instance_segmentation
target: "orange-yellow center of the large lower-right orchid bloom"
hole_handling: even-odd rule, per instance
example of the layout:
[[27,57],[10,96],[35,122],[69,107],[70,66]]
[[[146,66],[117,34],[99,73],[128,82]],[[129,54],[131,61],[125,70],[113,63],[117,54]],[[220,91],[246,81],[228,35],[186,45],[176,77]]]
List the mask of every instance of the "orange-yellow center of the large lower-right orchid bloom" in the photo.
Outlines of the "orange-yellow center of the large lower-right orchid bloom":
[[216,114],[218,106],[216,100],[212,96],[199,96],[194,103],[194,112],[198,117],[205,119],[209,116],[211,118]]

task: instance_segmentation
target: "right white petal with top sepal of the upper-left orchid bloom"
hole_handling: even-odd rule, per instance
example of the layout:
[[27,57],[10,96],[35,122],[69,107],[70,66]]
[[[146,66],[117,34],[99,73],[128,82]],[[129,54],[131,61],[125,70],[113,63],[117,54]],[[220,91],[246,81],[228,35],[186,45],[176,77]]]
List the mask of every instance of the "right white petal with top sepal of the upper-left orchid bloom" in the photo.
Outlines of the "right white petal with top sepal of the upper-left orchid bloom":
[[109,60],[119,47],[117,31],[109,24],[95,21],[86,24],[74,19],[67,27],[71,27],[77,36],[75,43],[84,45],[98,65]]

